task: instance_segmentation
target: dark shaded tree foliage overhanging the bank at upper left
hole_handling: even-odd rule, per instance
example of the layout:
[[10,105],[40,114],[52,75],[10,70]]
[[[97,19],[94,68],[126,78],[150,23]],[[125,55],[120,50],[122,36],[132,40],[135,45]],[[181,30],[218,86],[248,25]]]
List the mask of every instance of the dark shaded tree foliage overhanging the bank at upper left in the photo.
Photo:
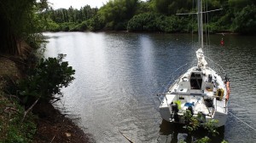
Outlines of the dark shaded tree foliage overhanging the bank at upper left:
[[[0,53],[20,54],[19,43],[37,43],[41,31],[38,13],[47,9],[46,0],[15,0],[0,2]],[[37,44],[34,44],[38,48]]]

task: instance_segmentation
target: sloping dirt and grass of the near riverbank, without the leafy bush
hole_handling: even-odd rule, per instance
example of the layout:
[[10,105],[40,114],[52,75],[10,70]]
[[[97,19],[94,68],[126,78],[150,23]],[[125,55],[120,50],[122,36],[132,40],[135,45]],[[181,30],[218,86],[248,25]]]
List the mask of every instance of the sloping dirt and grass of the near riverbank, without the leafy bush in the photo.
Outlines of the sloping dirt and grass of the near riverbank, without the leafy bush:
[[[12,86],[9,84],[10,81],[11,83],[16,83],[16,80],[24,77],[23,71],[26,63],[24,63],[25,60],[22,58],[4,54],[0,56],[0,66],[2,68],[0,71],[0,107],[1,111],[3,110],[3,114],[0,117],[0,134],[3,134],[0,142],[24,140],[26,138],[26,140],[37,143],[95,142],[90,134],[84,134],[84,131],[79,126],[73,123],[71,119],[62,115],[50,103],[38,103],[33,107],[32,115],[26,116],[24,123],[21,122],[25,109],[23,106],[16,104],[18,103],[18,98],[13,94],[9,94],[6,87]],[[17,122],[14,122],[14,119]],[[31,126],[32,131],[29,133],[31,136],[28,136],[26,133],[22,134],[22,132],[25,132],[23,126],[25,126],[26,121],[31,122],[26,124],[26,126]],[[15,139],[12,139],[14,138],[13,135],[16,136]],[[24,141],[26,142],[26,140]]]

